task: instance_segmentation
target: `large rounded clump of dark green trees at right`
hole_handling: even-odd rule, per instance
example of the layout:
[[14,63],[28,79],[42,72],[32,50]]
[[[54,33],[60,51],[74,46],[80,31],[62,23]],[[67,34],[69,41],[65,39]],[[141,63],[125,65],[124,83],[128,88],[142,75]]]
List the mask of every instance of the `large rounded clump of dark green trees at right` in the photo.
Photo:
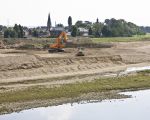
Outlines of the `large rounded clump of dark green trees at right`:
[[123,19],[116,20],[112,18],[105,20],[105,26],[102,29],[102,34],[105,37],[130,37],[136,34],[144,34],[144,32],[134,23],[126,22]]

